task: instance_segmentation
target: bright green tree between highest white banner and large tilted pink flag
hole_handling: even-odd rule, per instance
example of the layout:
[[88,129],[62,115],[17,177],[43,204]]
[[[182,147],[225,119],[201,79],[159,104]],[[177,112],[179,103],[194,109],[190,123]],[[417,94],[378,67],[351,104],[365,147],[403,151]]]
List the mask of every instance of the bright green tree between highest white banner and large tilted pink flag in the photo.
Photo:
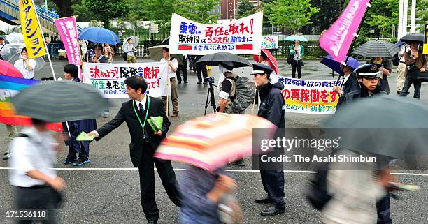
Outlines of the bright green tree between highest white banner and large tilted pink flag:
[[276,0],[265,5],[268,20],[277,27],[290,29],[294,33],[301,27],[312,24],[311,16],[319,8],[311,7],[311,0]]

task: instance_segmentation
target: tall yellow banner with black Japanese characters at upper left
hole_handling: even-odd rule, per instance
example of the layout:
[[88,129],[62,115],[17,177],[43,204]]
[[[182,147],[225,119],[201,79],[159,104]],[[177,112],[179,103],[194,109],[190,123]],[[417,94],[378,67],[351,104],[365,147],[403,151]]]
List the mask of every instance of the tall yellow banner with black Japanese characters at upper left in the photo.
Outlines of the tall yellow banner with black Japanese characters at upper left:
[[32,0],[20,0],[20,17],[28,57],[34,59],[45,55],[45,40],[43,40],[42,31],[36,15],[36,8],[34,8]]

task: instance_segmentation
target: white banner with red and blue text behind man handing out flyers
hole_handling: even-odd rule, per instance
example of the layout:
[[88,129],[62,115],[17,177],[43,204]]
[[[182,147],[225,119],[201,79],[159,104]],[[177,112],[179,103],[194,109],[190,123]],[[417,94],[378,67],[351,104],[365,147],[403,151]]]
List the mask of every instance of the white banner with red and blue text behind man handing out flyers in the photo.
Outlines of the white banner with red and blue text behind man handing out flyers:
[[166,62],[108,64],[83,63],[83,82],[92,84],[107,98],[129,98],[124,80],[139,75],[148,84],[145,94],[154,97],[171,96]]

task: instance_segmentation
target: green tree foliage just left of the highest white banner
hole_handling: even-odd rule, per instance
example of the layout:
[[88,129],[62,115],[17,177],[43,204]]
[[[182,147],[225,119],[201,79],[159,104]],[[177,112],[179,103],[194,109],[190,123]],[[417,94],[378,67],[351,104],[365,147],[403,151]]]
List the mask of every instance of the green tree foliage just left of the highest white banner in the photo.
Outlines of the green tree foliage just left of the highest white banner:
[[159,24],[161,31],[169,31],[171,26],[171,15],[177,8],[178,0],[128,0],[129,8],[132,8],[128,15],[129,22],[137,20],[150,20]]

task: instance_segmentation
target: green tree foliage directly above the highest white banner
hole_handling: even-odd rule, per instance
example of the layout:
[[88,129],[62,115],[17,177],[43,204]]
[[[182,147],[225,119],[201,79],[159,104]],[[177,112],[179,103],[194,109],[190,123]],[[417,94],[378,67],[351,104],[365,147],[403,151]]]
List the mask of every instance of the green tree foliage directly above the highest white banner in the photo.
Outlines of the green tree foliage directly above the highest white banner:
[[182,0],[178,2],[176,13],[194,22],[213,24],[220,17],[212,13],[219,4],[220,0]]

